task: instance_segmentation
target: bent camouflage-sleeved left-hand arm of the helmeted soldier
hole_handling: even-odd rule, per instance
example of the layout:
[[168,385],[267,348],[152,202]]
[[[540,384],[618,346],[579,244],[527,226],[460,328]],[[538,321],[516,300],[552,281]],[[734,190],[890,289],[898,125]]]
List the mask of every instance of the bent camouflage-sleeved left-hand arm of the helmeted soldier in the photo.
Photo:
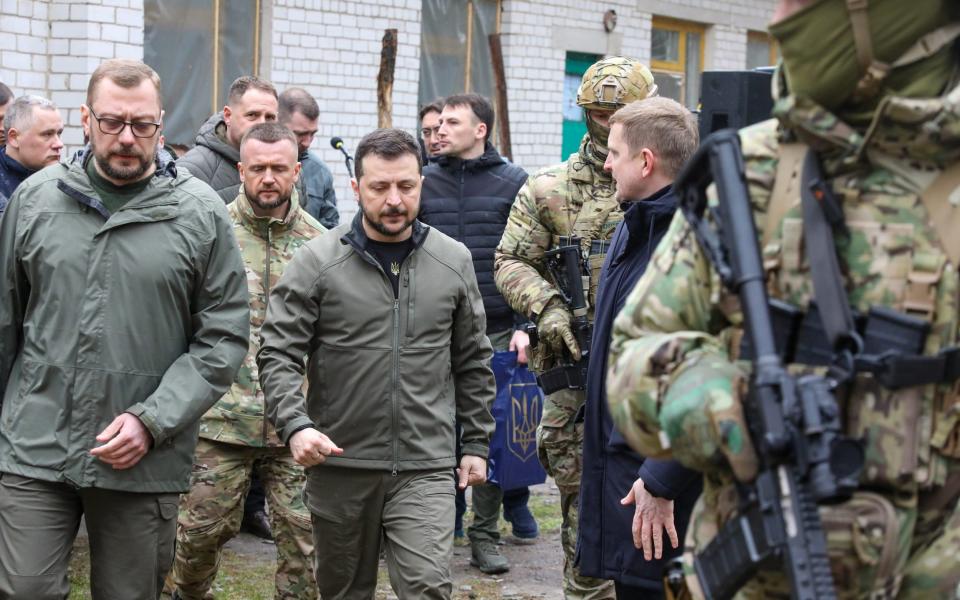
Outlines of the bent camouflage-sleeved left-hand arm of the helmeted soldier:
[[497,289],[526,317],[540,314],[551,298],[560,295],[542,274],[551,234],[540,216],[535,185],[536,177],[531,177],[520,188],[494,257]]

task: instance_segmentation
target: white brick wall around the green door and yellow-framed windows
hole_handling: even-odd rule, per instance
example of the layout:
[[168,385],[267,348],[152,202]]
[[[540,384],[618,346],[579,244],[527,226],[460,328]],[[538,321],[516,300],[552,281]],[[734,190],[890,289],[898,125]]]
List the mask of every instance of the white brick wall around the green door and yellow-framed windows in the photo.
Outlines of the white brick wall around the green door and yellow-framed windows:
[[[654,16],[706,28],[705,69],[743,69],[747,31],[766,29],[775,0],[504,0],[502,33],[514,160],[528,171],[561,160],[566,53],[650,60]],[[612,33],[604,12],[617,12]]]

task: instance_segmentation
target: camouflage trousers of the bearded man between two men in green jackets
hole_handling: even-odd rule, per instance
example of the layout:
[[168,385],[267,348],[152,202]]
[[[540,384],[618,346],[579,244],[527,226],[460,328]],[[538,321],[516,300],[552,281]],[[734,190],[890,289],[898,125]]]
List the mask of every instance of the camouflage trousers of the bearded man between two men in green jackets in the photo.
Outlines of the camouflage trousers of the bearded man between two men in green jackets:
[[254,448],[200,438],[190,492],[180,500],[171,583],[183,600],[212,598],[220,551],[240,530],[250,475],[258,470],[277,545],[275,597],[313,600],[313,531],[303,504],[303,468],[287,448]]

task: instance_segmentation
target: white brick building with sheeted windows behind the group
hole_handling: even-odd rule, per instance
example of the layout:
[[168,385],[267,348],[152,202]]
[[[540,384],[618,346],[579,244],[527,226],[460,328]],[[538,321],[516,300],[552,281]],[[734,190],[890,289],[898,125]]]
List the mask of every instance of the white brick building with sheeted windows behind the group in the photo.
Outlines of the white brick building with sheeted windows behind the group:
[[[580,74],[603,55],[651,66],[661,93],[695,106],[703,70],[770,64],[775,0],[0,0],[0,81],[56,102],[68,149],[83,142],[80,105],[106,58],[145,60],[163,78],[169,142],[223,106],[230,81],[256,73],[320,104],[315,148],[355,212],[342,155],[377,126],[384,30],[397,30],[393,124],[413,132],[437,95],[493,95],[487,34],[500,33],[513,160],[534,171],[582,134]],[[615,14],[614,14],[615,13]]]

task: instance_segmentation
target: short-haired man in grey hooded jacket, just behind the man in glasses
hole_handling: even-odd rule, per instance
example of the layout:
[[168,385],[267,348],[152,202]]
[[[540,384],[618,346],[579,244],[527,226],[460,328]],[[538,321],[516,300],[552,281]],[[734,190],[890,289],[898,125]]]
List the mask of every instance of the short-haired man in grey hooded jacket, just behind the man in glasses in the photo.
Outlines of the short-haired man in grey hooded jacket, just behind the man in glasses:
[[237,77],[223,111],[200,126],[196,145],[177,160],[177,166],[206,182],[224,204],[233,202],[240,192],[240,140],[257,123],[276,121],[277,103],[277,90],[269,81]]

